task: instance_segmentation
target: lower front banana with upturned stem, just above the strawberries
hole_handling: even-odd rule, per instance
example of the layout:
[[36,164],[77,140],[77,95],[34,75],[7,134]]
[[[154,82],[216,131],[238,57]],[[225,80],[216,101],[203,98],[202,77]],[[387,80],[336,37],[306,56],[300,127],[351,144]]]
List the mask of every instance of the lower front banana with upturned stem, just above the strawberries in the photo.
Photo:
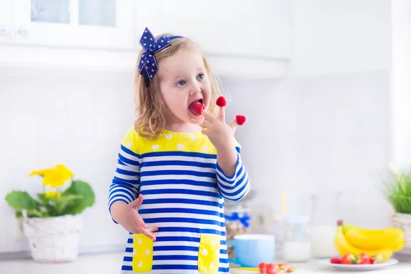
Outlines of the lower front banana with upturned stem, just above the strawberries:
[[336,236],[334,237],[334,244],[336,245],[336,249],[340,256],[344,256],[347,253],[351,253],[354,256],[357,256],[361,253],[366,253],[368,256],[373,256],[377,254],[381,254],[383,261],[388,260],[391,256],[393,256],[392,249],[361,249],[351,245],[351,242],[345,238],[343,233],[343,225],[338,223],[338,231]]

